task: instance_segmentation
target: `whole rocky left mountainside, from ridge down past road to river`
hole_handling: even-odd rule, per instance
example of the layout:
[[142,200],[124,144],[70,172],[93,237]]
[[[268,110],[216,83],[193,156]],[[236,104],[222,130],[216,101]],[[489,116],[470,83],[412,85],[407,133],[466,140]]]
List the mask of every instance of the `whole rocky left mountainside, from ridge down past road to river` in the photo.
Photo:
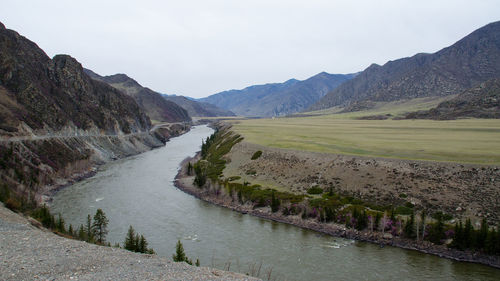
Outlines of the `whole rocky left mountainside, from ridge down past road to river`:
[[62,179],[161,146],[186,128],[152,129],[131,97],[0,24],[1,190],[40,199]]

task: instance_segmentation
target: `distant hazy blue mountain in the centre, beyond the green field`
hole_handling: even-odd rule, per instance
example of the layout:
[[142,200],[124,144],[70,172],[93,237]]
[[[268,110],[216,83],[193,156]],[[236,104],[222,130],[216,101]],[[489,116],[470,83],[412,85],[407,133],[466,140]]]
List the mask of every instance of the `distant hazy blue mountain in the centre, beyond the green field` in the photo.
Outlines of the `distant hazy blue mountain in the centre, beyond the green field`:
[[242,116],[283,116],[306,109],[354,76],[322,72],[304,81],[290,79],[284,83],[255,85],[217,93],[200,101]]

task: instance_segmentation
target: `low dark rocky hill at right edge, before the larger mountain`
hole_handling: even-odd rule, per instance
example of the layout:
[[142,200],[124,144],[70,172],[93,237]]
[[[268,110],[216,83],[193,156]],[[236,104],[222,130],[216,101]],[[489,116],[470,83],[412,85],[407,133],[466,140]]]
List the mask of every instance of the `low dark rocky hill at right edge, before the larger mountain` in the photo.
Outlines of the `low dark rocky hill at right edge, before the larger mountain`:
[[436,108],[417,111],[408,119],[451,120],[464,117],[500,118],[500,78],[491,79],[440,103]]

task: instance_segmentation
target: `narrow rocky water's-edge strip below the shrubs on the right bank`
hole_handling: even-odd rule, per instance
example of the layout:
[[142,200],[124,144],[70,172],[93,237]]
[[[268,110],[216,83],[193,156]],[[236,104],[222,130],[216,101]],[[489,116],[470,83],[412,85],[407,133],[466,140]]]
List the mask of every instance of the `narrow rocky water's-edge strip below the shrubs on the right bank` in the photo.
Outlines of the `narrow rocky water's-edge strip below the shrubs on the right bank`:
[[342,237],[357,241],[375,243],[380,245],[381,247],[393,246],[407,250],[415,250],[455,261],[479,263],[500,269],[500,258],[497,256],[488,256],[470,251],[459,251],[456,249],[448,248],[444,245],[435,245],[428,241],[417,242],[415,240],[388,235],[387,233],[384,236],[380,232],[348,229],[344,225],[335,223],[319,223],[313,219],[302,219],[300,216],[284,216],[281,212],[271,212],[271,209],[269,207],[254,209],[253,205],[251,204],[239,204],[237,200],[232,200],[229,196],[211,192],[210,188],[201,189],[193,184],[194,176],[187,175],[186,165],[189,161],[195,162],[199,160],[199,158],[200,154],[198,153],[194,158],[189,157],[182,161],[181,168],[179,169],[179,172],[175,178],[174,184],[180,190],[208,203],[228,208],[243,214],[249,214],[263,219],[310,229],[334,237]]

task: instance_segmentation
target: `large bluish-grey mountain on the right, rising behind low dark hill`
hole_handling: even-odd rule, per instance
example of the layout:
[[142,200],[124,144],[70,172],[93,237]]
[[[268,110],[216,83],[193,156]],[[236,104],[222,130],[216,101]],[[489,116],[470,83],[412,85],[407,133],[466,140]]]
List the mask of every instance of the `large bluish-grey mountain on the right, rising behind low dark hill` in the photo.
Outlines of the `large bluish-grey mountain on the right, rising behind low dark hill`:
[[500,22],[490,23],[433,54],[372,64],[354,79],[329,92],[309,110],[367,101],[395,101],[459,94],[500,76]]

